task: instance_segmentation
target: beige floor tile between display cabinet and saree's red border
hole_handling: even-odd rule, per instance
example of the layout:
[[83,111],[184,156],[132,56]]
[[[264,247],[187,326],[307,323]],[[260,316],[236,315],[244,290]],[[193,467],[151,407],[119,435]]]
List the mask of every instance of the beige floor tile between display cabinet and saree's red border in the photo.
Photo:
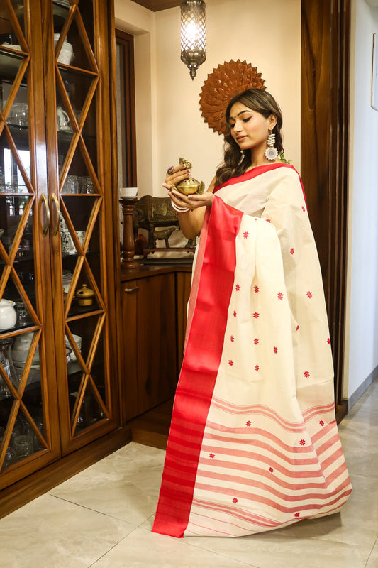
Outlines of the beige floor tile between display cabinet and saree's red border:
[[134,527],[155,513],[165,452],[131,443],[50,491]]

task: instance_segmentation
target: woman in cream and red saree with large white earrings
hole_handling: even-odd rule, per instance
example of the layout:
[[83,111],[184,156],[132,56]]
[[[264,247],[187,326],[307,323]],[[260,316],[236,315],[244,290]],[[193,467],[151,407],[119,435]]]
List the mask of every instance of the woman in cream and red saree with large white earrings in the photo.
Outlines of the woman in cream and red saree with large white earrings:
[[[282,114],[248,89],[226,109],[209,191],[170,191],[201,232],[154,532],[242,536],[337,513],[348,499],[321,270]],[[275,135],[274,152],[272,136]],[[169,168],[165,187],[187,178]]]

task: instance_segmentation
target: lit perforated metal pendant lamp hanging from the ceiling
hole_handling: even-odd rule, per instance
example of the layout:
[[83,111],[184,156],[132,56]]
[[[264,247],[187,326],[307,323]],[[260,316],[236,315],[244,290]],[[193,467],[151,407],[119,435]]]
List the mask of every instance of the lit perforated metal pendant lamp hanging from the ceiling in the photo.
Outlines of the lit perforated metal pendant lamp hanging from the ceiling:
[[187,65],[191,79],[206,60],[204,0],[184,0],[181,4],[181,60]]

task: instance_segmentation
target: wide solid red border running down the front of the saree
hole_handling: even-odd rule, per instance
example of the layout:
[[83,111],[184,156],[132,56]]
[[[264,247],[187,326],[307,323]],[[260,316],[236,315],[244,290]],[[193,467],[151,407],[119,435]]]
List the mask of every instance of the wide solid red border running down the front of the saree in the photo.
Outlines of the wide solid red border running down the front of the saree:
[[236,265],[235,237],[242,217],[238,209],[214,199],[152,532],[183,537],[189,522],[199,454],[223,351]]

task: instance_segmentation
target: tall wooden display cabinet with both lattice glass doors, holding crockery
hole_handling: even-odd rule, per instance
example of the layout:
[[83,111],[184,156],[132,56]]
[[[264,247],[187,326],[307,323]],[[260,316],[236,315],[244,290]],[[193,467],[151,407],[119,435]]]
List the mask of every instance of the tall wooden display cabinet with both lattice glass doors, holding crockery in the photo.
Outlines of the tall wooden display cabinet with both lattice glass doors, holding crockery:
[[0,0],[0,488],[117,425],[109,21]]

